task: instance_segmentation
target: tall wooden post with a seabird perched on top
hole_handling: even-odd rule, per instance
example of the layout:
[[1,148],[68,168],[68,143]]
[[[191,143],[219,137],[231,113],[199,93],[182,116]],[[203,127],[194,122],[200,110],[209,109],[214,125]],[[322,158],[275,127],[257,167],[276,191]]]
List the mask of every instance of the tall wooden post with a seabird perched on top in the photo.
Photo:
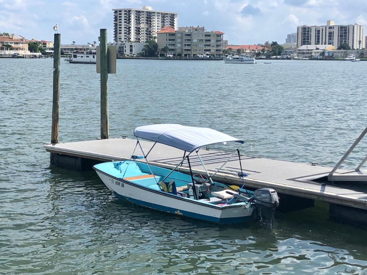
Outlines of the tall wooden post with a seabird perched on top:
[[51,143],[59,142],[59,104],[60,104],[60,54],[61,34],[54,34],[54,83],[52,95]]

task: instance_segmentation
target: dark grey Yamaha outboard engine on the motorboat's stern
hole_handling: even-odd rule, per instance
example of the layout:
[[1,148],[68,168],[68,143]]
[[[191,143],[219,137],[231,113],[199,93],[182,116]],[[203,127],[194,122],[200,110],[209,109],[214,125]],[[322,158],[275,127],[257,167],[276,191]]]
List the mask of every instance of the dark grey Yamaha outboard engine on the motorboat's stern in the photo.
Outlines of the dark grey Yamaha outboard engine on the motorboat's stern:
[[272,228],[275,209],[279,206],[277,192],[272,188],[262,188],[255,190],[253,201],[257,205],[258,216],[263,225]]

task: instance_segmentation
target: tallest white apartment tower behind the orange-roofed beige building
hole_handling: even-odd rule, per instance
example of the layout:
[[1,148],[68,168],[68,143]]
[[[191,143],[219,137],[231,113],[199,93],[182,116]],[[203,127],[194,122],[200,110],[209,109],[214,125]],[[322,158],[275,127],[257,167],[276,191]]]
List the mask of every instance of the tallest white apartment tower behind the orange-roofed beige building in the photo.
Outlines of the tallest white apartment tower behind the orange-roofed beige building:
[[143,43],[163,27],[177,29],[177,15],[178,12],[154,11],[150,6],[113,9],[113,40]]

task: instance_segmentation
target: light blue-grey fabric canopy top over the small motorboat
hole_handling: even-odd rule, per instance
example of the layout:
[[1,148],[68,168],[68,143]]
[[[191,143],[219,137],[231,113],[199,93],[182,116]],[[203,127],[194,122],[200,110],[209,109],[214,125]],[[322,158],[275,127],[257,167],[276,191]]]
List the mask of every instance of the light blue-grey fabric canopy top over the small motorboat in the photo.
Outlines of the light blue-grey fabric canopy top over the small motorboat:
[[135,128],[134,135],[142,139],[163,143],[184,151],[192,152],[195,149],[209,144],[221,142],[239,142],[241,139],[215,131],[210,128],[190,127],[180,124],[153,124]]

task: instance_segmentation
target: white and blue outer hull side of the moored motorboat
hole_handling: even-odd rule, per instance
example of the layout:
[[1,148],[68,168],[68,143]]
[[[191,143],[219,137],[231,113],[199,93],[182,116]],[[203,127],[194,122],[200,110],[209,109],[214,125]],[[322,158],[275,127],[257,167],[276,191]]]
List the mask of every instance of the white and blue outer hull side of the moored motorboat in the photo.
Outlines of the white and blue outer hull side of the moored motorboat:
[[245,203],[225,207],[210,205],[209,203],[202,203],[200,200],[197,201],[140,186],[108,175],[96,168],[94,169],[107,188],[118,198],[126,199],[147,208],[220,224],[252,221],[254,208],[247,208]]

